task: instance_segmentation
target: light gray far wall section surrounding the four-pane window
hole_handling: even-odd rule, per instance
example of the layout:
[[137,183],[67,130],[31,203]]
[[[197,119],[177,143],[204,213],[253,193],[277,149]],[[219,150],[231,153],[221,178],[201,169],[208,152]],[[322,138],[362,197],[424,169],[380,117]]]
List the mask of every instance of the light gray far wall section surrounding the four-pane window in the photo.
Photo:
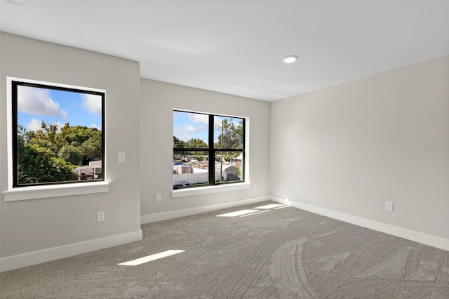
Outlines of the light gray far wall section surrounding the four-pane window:
[[[140,86],[142,215],[266,197],[269,194],[269,102],[148,79],[142,79]],[[248,190],[172,198],[173,109],[249,117],[250,175],[246,181],[257,182],[257,189],[251,185]],[[162,195],[162,201],[156,202],[156,194]]]

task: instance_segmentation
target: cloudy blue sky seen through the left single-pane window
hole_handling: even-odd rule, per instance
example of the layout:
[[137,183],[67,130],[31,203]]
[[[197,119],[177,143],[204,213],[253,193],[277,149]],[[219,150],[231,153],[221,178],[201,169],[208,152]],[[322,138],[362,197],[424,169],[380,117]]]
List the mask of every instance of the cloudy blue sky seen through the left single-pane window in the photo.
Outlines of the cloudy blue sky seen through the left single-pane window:
[[41,121],[100,129],[101,105],[100,95],[18,86],[18,124],[27,131],[39,129]]

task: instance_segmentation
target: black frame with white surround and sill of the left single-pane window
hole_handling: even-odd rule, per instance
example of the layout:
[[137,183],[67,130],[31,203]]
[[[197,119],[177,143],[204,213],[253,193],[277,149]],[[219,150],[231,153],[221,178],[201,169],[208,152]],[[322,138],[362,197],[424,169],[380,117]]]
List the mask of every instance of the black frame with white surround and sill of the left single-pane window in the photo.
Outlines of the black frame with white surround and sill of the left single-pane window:
[[[13,93],[17,92],[17,86],[13,88],[13,82],[18,85],[50,88],[60,91],[74,91],[86,94],[102,93],[102,178],[97,180],[73,180],[61,182],[41,182],[37,184],[17,184],[18,174],[18,102]],[[37,81],[16,77],[6,77],[6,130],[8,143],[8,187],[2,191],[5,201],[18,201],[27,199],[42,199],[48,197],[61,197],[77,194],[93,194],[109,192],[109,182],[106,175],[106,121],[105,121],[105,97],[106,91],[100,88],[88,88],[84,86],[72,86],[57,84],[48,81]],[[14,110],[13,110],[14,109]],[[15,164],[15,165],[14,165]]]

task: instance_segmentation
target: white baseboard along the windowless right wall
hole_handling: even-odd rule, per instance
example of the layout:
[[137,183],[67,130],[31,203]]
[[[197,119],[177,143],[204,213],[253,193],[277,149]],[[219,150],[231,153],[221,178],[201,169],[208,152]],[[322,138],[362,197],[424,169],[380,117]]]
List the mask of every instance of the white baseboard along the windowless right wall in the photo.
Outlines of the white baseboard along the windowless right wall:
[[414,230],[408,230],[403,227],[388,225],[382,222],[377,222],[374,220],[369,220],[366,218],[361,218],[354,215],[329,210],[327,208],[320,208],[319,206],[302,204],[300,202],[290,201],[288,199],[283,199],[281,197],[270,196],[269,199],[272,201],[279,202],[279,204],[287,204],[288,206],[300,208],[301,210],[304,211],[309,211],[311,213],[316,213],[319,215],[341,220],[361,227],[366,227],[371,230],[377,230],[377,232],[384,232],[385,234],[391,234],[396,237],[401,237],[403,239],[408,239],[410,241],[415,241],[421,244],[449,251],[449,239],[432,236],[431,234],[424,234],[422,232],[415,232]]

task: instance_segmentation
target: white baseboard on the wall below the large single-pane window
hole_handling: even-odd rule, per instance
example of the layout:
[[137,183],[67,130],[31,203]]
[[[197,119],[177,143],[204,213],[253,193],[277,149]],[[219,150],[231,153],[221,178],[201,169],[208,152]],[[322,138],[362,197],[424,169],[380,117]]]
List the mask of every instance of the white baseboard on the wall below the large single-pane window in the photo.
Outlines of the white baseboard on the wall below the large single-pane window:
[[55,248],[48,248],[41,251],[8,256],[0,259],[0,272],[45,263],[51,260],[58,260],[60,258],[68,258],[69,256],[79,255],[81,253],[97,251],[140,240],[142,240],[142,230]]

